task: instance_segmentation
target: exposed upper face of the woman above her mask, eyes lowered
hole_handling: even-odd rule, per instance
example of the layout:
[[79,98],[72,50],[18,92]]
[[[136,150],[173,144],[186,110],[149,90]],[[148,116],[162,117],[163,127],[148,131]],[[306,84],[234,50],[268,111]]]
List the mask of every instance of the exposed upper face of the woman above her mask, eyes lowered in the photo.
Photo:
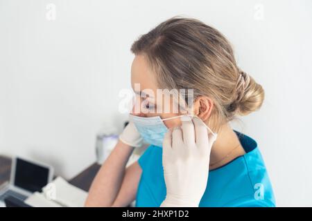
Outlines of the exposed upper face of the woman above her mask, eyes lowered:
[[[155,117],[162,119],[175,117],[181,113],[173,108],[172,96],[158,93],[156,74],[150,70],[148,63],[143,55],[136,55],[131,66],[131,84],[136,94],[135,106],[132,114],[139,117]],[[158,90],[159,91],[159,90]],[[169,104],[168,104],[169,103]],[[180,118],[165,120],[167,128],[181,125]]]

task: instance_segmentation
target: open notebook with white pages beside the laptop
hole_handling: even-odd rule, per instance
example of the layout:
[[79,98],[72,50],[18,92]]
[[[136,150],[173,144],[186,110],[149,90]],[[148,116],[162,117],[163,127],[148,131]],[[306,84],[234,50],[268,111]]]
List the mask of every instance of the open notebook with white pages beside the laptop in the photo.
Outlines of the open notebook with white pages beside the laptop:
[[35,192],[24,202],[34,207],[82,207],[87,199],[87,192],[69,184],[62,177],[42,189],[42,193]]

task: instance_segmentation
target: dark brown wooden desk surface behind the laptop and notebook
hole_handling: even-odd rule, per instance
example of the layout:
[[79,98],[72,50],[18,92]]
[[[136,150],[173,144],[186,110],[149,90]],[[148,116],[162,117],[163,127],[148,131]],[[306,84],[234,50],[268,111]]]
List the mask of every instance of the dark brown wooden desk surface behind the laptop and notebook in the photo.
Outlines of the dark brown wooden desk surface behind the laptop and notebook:
[[[84,171],[68,180],[70,184],[77,186],[84,191],[89,191],[96,173],[100,169],[101,165],[94,163],[87,167]],[[11,159],[0,155],[0,185],[10,179]]]

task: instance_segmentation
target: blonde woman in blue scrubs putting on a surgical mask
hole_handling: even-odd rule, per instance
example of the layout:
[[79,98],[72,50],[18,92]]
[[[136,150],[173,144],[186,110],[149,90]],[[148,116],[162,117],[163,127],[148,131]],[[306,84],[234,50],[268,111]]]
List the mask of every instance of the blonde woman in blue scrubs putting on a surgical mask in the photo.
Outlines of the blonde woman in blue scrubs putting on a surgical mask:
[[[264,98],[261,85],[236,65],[229,41],[197,19],[173,17],[141,35],[131,50],[140,108],[132,111],[85,205],[275,206],[257,142],[229,125],[257,111]],[[180,99],[169,95],[164,111],[157,89],[191,89],[192,99],[180,93],[187,105],[174,112]],[[150,146],[125,169],[144,141]]]

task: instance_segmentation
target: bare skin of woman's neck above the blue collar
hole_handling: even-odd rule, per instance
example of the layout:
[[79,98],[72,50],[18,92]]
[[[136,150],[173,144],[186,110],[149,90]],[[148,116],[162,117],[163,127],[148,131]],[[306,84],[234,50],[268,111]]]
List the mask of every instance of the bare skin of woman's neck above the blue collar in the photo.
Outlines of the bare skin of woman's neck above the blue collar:
[[225,124],[211,147],[209,169],[217,169],[244,154],[245,150],[236,133],[229,124]]

